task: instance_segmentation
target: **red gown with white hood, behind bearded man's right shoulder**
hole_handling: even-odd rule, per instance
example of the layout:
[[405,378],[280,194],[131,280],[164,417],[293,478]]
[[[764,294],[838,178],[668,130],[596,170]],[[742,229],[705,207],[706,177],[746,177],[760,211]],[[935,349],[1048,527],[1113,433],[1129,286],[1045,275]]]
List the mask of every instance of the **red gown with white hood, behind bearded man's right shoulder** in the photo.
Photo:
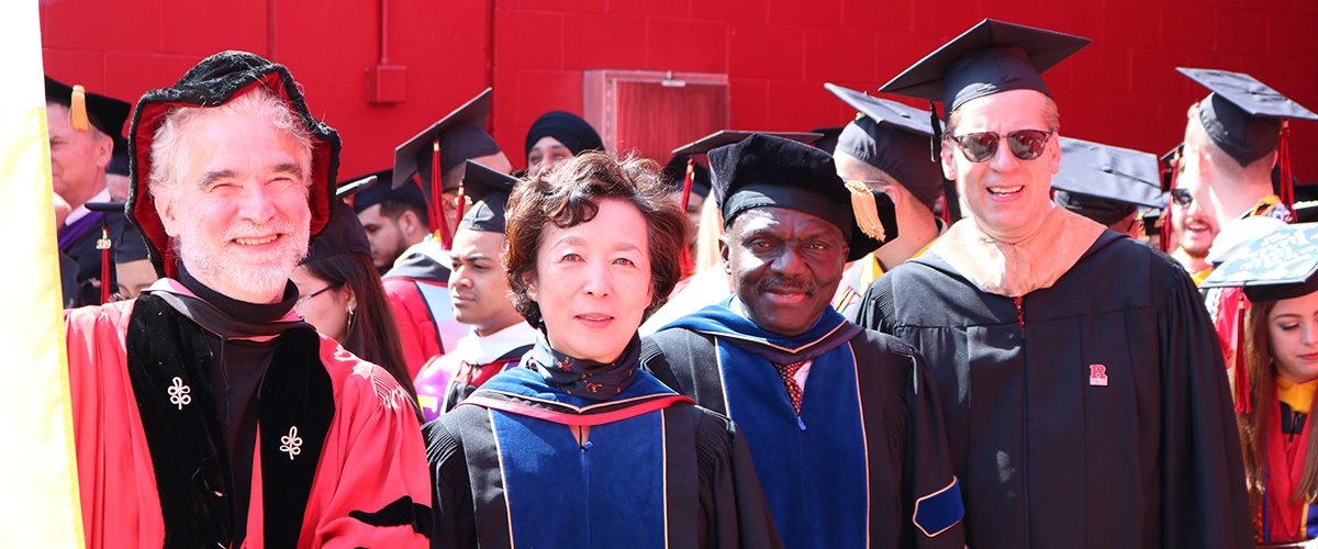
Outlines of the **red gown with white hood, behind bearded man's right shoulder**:
[[467,333],[467,327],[453,320],[447,257],[439,242],[424,240],[403,251],[380,280],[398,320],[403,362],[414,379],[427,359],[447,353]]

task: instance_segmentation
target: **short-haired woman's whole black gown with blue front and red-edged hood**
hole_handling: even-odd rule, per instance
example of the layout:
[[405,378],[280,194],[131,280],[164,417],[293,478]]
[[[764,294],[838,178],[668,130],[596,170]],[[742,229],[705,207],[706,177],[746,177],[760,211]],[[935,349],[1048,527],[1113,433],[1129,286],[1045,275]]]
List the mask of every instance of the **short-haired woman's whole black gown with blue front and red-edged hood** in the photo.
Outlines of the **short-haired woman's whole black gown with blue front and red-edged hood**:
[[424,429],[434,548],[782,546],[737,427],[643,371],[601,402],[506,370]]

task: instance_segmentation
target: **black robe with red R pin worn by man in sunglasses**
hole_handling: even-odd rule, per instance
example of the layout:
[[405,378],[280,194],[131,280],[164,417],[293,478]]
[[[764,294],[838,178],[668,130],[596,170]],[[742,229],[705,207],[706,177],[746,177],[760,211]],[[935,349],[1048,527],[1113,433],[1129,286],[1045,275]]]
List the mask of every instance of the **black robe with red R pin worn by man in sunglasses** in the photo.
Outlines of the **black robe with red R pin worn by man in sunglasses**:
[[1222,353],[1189,275],[1106,232],[1019,303],[928,253],[875,280],[857,319],[933,369],[967,545],[1252,546]]

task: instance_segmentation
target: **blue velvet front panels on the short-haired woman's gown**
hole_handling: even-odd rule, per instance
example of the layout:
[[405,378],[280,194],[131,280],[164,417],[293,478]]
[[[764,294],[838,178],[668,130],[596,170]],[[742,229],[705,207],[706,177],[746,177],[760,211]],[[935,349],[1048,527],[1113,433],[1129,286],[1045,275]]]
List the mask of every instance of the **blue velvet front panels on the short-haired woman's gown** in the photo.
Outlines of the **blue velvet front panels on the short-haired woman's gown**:
[[585,448],[568,427],[490,416],[514,546],[666,546],[662,411],[596,425]]

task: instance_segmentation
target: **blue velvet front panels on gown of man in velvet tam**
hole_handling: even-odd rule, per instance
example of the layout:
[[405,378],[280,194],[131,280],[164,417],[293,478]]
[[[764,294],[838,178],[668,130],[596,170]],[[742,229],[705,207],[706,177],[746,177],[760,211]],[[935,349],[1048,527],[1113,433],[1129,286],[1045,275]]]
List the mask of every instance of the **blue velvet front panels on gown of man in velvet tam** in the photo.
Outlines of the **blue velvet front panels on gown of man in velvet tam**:
[[800,417],[767,359],[724,340],[718,357],[729,415],[784,546],[866,546],[869,471],[851,345],[811,363]]

